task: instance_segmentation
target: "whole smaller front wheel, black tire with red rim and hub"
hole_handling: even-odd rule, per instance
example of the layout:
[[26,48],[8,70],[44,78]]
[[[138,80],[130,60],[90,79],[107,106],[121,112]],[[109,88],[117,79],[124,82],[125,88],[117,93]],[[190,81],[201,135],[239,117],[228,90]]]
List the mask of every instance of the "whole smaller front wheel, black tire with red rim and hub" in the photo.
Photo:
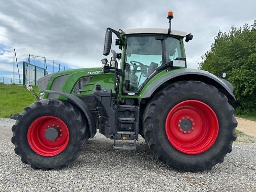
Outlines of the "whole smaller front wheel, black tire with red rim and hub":
[[21,161],[44,170],[72,164],[89,138],[79,108],[57,99],[36,101],[25,108],[12,132],[15,153]]

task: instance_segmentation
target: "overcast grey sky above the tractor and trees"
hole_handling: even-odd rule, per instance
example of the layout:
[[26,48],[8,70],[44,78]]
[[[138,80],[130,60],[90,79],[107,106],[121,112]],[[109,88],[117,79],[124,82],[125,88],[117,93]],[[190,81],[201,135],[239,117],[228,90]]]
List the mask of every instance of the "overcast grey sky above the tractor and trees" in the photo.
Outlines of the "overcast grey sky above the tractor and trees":
[[71,68],[101,66],[107,27],[168,28],[173,11],[172,29],[194,35],[185,49],[188,67],[196,68],[218,31],[251,25],[255,7],[255,0],[0,0],[0,61],[12,61],[15,47],[18,60],[30,53]]

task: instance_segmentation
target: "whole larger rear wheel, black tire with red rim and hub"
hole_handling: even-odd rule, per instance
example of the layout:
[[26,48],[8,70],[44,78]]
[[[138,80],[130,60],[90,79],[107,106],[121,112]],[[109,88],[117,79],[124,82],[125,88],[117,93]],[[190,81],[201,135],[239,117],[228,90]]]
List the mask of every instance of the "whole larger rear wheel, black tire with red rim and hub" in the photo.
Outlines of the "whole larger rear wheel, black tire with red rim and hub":
[[181,81],[159,91],[143,116],[152,152],[180,171],[198,172],[223,162],[236,139],[234,109],[215,87]]

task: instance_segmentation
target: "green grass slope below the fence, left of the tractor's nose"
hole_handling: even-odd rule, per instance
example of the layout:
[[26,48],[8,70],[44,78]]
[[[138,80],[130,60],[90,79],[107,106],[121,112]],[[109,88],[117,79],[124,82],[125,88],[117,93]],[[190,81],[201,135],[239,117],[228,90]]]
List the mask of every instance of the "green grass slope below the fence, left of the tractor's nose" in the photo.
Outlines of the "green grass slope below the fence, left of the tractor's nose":
[[[33,86],[38,94],[38,88]],[[10,114],[20,113],[23,108],[36,101],[26,86],[0,84],[0,117],[9,117]]]

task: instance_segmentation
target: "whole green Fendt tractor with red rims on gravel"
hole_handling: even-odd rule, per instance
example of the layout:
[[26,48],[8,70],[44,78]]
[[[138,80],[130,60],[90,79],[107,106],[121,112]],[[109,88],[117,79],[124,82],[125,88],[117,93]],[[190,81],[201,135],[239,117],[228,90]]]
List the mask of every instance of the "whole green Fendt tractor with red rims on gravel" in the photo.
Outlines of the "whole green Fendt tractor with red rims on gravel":
[[40,98],[12,127],[21,161],[43,170],[73,164],[99,129],[114,149],[136,149],[140,134],[160,161],[180,171],[222,163],[236,140],[233,86],[187,69],[183,39],[193,36],[171,29],[172,12],[167,18],[168,29],[107,28],[104,55],[113,34],[122,51],[111,50],[102,68],[40,78]]

